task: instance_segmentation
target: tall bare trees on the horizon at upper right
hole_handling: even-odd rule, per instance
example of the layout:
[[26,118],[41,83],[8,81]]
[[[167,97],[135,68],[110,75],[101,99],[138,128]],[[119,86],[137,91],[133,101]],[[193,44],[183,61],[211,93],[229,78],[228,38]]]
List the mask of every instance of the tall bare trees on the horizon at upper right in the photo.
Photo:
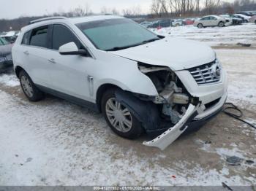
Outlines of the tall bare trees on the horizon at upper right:
[[233,14],[249,10],[256,10],[255,0],[153,0],[151,17]]

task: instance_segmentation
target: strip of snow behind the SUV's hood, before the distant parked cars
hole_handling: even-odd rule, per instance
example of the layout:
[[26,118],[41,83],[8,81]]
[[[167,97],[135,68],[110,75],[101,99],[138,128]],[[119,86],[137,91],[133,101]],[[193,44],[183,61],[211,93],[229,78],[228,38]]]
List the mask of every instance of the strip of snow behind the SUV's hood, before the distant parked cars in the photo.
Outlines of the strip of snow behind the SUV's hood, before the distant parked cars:
[[220,44],[237,44],[239,42],[250,43],[253,46],[256,46],[256,25],[254,23],[246,23],[241,26],[227,26],[223,28],[178,26],[162,28],[160,30],[151,29],[151,31],[166,36],[200,40],[201,42],[206,42],[211,46]]

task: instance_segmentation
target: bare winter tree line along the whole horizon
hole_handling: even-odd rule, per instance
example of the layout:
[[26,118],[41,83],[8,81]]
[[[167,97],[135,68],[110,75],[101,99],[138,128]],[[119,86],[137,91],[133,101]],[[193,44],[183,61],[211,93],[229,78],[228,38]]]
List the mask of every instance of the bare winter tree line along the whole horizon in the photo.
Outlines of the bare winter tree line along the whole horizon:
[[[219,15],[240,11],[256,10],[256,0],[235,0],[226,2],[223,0],[152,0],[151,10],[144,17],[192,17],[200,15]],[[93,15],[89,4],[84,7],[77,7],[69,12],[55,12],[51,15],[40,17],[18,17],[16,19],[0,20],[1,31],[18,31],[29,24],[31,20],[49,16],[82,17]],[[133,6],[118,10],[115,7],[102,7],[101,14],[124,15],[125,17],[141,17],[140,6]]]

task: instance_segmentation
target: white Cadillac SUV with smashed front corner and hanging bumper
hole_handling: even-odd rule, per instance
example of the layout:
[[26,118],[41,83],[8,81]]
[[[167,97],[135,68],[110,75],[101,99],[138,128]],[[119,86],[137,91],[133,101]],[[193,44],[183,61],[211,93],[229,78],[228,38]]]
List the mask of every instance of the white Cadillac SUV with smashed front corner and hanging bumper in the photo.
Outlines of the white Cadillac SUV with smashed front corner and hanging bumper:
[[210,47],[148,31],[124,17],[50,17],[22,28],[12,48],[30,101],[50,93],[102,112],[119,136],[144,131],[165,149],[221,111],[227,77]]

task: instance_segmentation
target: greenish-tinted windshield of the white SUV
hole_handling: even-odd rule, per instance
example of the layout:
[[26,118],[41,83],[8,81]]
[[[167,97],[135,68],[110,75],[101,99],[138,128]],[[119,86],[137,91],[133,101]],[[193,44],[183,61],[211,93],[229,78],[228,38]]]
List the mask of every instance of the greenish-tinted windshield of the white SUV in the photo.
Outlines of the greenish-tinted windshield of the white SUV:
[[115,51],[161,39],[132,20],[109,19],[77,24],[100,50]]

